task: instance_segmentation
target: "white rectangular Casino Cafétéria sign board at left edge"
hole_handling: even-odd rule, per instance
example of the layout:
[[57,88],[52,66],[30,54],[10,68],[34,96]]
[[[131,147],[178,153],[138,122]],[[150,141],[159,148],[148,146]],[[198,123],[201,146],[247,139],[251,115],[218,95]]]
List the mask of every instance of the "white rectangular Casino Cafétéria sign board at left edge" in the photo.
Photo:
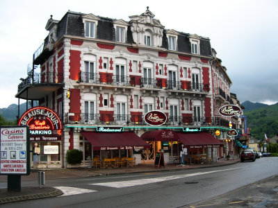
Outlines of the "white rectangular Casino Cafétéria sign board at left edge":
[[30,135],[28,126],[0,128],[1,175],[30,174]]

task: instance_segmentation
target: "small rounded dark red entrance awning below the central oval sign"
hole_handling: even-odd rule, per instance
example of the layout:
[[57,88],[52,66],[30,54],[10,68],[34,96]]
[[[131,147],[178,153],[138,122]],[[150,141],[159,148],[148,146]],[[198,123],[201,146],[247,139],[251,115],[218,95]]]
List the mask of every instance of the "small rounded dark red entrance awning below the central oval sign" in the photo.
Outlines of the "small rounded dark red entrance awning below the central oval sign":
[[145,141],[179,141],[179,135],[172,130],[154,130],[141,136]]

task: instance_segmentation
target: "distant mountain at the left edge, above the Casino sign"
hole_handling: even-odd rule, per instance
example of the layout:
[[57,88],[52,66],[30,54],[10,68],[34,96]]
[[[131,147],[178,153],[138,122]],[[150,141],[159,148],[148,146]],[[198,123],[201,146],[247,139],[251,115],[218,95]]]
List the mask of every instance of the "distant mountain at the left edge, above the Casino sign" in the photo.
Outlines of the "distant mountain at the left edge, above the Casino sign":
[[[30,107],[30,106],[29,106]],[[22,103],[19,105],[19,116],[21,116],[26,111],[26,103]],[[0,114],[7,120],[7,121],[15,121],[17,119],[18,113],[18,105],[12,104],[8,107],[0,108]]]

